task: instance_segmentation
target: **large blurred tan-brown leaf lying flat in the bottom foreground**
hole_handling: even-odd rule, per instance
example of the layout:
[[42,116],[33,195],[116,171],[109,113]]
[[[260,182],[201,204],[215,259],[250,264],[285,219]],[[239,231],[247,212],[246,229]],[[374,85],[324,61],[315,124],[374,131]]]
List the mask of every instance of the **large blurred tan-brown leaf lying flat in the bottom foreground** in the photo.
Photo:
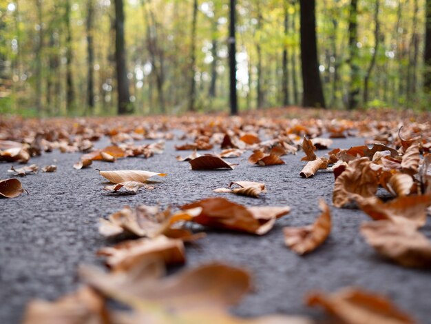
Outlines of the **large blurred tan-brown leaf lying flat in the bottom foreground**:
[[171,312],[218,309],[238,303],[251,289],[248,272],[229,265],[212,263],[183,270],[159,280],[148,279],[147,265],[140,263],[129,272],[106,274],[93,267],[81,267],[85,281],[106,296],[136,305],[150,301]]

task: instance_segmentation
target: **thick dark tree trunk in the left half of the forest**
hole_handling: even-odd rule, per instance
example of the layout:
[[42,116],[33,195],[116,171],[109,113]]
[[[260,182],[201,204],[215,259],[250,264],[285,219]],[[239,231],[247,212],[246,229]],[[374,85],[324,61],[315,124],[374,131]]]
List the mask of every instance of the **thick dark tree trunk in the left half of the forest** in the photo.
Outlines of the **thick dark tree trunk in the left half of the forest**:
[[134,110],[130,102],[129,80],[127,79],[124,21],[123,0],[115,0],[115,61],[117,72],[118,114],[129,114]]

